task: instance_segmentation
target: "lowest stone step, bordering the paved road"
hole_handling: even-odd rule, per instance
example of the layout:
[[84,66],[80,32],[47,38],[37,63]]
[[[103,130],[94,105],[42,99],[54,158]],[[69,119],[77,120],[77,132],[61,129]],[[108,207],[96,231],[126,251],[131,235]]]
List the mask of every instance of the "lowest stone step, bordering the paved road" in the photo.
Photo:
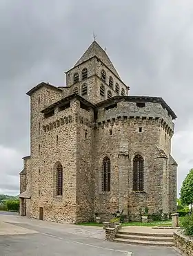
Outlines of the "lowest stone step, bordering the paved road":
[[138,244],[141,246],[174,246],[174,244],[171,241],[143,241],[123,238],[115,238],[113,241],[125,244]]

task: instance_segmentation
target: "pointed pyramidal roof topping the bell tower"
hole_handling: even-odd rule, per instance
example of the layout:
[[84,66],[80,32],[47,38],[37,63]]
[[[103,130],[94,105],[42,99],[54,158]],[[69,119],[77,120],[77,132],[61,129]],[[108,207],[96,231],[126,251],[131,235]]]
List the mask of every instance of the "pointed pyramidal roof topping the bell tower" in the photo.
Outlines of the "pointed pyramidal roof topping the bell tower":
[[101,60],[101,62],[103,62],[112,71],[112,73],[114,73],[114,75],[119,77],[119,74],[114,68],[112,62],[110,61],[110,58],[96,41],[92,42],[92,44],[88,47],[85,53],[83,53],[82,57],[77,61],[74,66],[79,66],[79,64],[90,60],[94,56],[98,57],[99,60]]

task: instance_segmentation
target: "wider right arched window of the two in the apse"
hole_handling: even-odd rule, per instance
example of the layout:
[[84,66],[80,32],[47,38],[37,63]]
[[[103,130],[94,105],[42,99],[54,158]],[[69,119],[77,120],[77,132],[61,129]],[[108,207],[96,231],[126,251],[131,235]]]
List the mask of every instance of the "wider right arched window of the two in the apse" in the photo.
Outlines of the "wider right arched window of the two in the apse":
[[133,159],[133,190],[143,192],[143,174],[144,174],[144,160],[141,155],[134,156]]

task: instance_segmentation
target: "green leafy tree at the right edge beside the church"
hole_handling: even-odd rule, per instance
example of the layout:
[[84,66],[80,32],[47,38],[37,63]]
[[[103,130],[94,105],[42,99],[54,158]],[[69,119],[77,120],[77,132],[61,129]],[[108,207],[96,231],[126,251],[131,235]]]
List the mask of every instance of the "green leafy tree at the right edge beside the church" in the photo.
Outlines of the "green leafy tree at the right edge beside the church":
[[191,205],[193,203],[193,169],[185,177],[181,187],[181,203],[183,205]]

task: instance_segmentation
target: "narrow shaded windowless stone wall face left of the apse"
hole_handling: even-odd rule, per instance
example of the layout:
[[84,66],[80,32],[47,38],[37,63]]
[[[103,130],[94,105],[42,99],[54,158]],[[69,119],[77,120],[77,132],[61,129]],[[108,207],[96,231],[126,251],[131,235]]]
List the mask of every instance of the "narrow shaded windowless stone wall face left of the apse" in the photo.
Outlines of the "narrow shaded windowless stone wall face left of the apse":
[[94,217],[94,112],[79,107],[77,116],[77,222],[82,222]]

